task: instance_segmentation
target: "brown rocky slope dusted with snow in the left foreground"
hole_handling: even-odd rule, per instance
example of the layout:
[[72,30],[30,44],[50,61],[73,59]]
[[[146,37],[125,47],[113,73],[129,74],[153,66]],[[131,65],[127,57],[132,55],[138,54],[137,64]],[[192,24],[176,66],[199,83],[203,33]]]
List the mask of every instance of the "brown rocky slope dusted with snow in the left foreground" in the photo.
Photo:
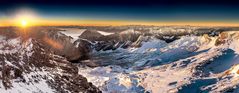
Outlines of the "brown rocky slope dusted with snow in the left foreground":
[[97,87],[78,74],[77,65],[56,55],[55,50],[43,41],[0,37],[2,93],[100,93]]

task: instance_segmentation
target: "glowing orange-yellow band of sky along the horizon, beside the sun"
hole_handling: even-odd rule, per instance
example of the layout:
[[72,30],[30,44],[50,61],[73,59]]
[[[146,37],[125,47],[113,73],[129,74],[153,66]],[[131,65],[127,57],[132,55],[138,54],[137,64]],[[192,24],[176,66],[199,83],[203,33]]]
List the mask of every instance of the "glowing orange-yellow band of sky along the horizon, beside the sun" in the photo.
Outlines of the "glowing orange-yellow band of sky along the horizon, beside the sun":
[[[21,20],[0,19],[0,26],[21,26]],[[239,26],[233,22],[145,22],[127,20],[61,20],[61,19],[27,19],[28,26],[65,26],[65,25],[90,25],[90,26],[119,26],[119,25],[191,25],[191,26]]]

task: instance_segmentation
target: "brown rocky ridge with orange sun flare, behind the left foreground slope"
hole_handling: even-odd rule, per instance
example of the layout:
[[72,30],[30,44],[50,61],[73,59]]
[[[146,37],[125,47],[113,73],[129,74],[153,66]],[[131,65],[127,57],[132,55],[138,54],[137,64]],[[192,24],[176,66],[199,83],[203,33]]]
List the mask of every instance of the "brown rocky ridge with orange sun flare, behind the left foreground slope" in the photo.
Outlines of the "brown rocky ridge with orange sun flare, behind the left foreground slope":
[[[83,60],[88,57],[90,43],[84,40],[73,41],[72,37],[66,36],[55,28],[29,29],[29,38],[34,38],[56,55],[67,58],[68,61]],[[81,44],[79,44],[81,43]]]

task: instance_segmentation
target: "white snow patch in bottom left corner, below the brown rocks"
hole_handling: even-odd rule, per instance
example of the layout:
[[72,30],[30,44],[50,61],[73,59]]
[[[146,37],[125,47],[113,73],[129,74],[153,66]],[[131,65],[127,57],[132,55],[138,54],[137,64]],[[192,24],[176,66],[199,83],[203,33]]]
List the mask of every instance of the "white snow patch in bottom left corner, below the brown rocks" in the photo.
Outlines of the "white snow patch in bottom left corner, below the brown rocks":
[[[21,82],[21,79],[15,79],[12,83],[11,89],[5,89],[2,83],[0,83],[0,92],[1,93],[32,93],[32,92],[43,92],[43,93],[54,93],[56,90],[52,89],[46,83],[42,77],[48,75],[47,72],[37,71],[29,74],[25,74],[24,78],[25,82]],[[37,82],[32,80],[32,77],[36,77]],[[2,82],[2,80],[0,80]]]

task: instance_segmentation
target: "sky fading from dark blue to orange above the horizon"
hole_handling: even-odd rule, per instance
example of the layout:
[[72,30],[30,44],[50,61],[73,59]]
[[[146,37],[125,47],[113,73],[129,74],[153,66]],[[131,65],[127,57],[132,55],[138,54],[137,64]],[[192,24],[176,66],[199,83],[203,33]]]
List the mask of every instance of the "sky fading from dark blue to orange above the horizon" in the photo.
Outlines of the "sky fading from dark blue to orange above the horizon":
[[26,18],[35,25],[237,25],[234,0],[3,0],[1,25]]

